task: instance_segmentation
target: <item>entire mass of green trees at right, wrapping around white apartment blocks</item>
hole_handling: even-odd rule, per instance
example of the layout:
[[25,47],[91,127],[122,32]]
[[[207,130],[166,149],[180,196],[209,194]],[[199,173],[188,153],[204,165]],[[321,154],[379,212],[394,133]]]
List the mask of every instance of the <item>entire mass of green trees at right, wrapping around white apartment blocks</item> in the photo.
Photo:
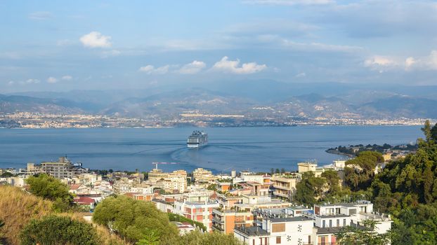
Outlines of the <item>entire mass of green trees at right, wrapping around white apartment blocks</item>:
[[[374,210],[392,215],[393,226],[387,235],[391,244],[437,244],[437,124],[431,126],[427,121],[422,131],[425,139],[418,140],[417,152],[387,163],[379,174],[374,169],[383,162],[380,153],[363,151],[348,160],[344,188],[331,188],[331,173],[319,179],[304,174],[296,185],[295,200],[304,204],[372,200]],[[330,183],[330,190],[320,190],[321,179]],[[387,244],[386,236],[347,229],[339,234],[342,244]]]

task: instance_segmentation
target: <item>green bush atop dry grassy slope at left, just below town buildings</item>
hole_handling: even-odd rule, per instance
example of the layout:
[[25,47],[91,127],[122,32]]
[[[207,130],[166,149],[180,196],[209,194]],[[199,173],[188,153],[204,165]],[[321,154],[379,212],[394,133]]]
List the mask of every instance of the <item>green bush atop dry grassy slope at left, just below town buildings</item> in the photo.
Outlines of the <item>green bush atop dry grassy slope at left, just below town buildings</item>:
[[47,174],[39,174],[30,176],[26,182],[30,193],[53,201],[53,208],[56,211],[67,211],[74,206],[73,196],[68,192],[70,188],[60,180]]

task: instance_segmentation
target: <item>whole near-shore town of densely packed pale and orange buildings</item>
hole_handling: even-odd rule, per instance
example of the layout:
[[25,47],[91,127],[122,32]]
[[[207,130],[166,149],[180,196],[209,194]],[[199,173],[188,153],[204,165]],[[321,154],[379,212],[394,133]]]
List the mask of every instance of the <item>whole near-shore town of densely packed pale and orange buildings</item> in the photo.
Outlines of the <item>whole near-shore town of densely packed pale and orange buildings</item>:
[[[382,165],[374,169],[375,174]],[[339,176],[338,186],[343,186],[344,168],[345,161],[337,160],[325,166],[299,162],[296,172],[282,169],[275,173],[233,170],[230,174],[213,174],[202,168],[192,173],[183,169],[164,172],[159,163],[150,172],[91,171],[81,163],[60,157],[53,162],[28,163],[25,169],[0,169],[0,184],[26,190],[29,176],[48,174],[70,187],[74,202],[88,221],[106,197],[125,195],[152,202],[160,211],[193,221],[174,222],[181,234],[202,228],[204,232],[233,235],[249,245],[336,244],[341,228],[369,231],[366,221],[376,223],[371,232],[388,232],[393,223],[391,216],[374,210],[372,202],[365,198],[313,207],[294,200],[296,185],[305,173],[321,176],[334,171]]]

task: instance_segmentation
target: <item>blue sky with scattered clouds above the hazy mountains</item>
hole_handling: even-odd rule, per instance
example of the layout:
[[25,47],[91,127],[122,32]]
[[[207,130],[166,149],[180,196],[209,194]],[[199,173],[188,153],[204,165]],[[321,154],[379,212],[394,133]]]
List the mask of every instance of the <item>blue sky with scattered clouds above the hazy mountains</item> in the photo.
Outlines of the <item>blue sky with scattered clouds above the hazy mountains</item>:
[[437,1],[0,0],[0,93],[437,85]]

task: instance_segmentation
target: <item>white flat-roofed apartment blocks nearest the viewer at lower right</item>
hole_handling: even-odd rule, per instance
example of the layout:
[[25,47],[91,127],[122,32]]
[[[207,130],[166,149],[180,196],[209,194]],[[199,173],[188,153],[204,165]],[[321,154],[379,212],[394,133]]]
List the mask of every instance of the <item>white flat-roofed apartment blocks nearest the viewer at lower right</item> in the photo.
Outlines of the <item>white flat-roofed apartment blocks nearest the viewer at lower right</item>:
[[[288,216],[296,211],[297,216]],[[297,213],[299,211],[299,213]],[[287,211],[261,211],[260,222],[254,227],[235,227],[234,236],[245,244],[337,244],[335,234],[346,226],[353,225],[367,230],[363,221],[377,221],[374,232],[384,234],[391,229],[391,217],[377,214],[368,201],[353,203],[314,205],[313,210],[304,207],[289,208]],[[287,214],[289,213],[289,214]],[[278,218],[279,217],[279,218]]]

